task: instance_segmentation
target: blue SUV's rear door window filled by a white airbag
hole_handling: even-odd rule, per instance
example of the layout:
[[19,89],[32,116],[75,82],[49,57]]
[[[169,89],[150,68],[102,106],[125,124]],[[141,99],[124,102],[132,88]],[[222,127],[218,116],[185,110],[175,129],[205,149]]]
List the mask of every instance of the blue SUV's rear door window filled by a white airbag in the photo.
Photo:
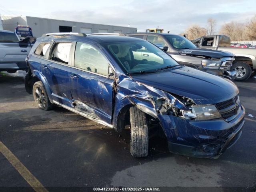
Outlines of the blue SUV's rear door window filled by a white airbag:
[[54,44],[50,54],[50,60],[68,64],[71,42],[59,42]]

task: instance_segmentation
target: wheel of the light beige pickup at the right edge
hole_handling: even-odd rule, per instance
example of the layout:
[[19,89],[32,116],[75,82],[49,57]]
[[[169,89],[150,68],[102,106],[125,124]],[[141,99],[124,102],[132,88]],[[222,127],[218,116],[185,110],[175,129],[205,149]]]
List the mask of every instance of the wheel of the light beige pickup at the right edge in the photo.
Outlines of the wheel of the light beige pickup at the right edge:
[[252,74],[252,68],[250,67],[250,65],[244,62],[234,63],[231,70],[236,70],[236,81],[247,80]]

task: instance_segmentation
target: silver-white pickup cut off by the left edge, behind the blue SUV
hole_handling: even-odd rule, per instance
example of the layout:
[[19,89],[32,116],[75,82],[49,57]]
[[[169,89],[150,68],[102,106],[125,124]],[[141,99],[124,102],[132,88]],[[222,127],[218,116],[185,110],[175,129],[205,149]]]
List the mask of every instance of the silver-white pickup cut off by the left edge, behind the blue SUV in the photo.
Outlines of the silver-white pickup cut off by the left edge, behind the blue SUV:
[[12,31],[0,30],[0,71],[26,70],[26,57],[32,48],[29,39],[21,40]]

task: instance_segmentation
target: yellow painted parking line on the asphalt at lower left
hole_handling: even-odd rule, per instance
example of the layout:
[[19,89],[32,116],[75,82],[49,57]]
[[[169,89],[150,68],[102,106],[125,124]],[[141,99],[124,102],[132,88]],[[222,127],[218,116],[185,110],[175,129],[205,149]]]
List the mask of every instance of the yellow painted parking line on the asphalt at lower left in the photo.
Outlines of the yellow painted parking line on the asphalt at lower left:
[[14,166],[20,175],[36,192],[48,192],[35,176],[16,158],[16,156],[0,141],[0,152]]

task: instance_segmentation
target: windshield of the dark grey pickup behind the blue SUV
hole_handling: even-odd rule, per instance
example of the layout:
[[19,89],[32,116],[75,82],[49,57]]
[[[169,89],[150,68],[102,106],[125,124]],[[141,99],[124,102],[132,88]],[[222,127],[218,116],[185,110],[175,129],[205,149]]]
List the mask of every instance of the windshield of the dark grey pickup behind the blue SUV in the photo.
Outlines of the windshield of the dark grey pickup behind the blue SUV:
[[187,38],[180,35],[166,35],[166,39],[176,49],[196,48],[196,46]]

